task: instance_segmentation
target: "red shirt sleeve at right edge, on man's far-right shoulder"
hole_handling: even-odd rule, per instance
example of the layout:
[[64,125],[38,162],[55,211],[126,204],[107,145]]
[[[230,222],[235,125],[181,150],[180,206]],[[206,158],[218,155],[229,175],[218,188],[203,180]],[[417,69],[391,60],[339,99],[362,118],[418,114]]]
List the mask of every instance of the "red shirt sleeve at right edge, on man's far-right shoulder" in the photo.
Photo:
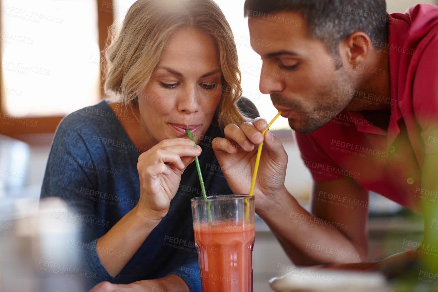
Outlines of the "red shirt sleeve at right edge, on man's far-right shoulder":
[[[435,29],[436,31],[437,29]],[[413,110],[425,153],[438,152],[438,34],[426,45],[413,82]]]

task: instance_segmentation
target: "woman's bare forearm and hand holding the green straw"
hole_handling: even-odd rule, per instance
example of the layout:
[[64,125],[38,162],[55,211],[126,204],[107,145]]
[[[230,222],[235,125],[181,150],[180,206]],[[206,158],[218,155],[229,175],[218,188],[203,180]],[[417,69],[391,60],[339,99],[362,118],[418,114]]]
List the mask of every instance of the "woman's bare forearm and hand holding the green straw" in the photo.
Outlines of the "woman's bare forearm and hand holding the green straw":
[[[167,214],[170,201],[179,187],[181,174],[201,153],[199,146],[193,146],[194,142],[183,138],[163,140],[138,157],[140,199],[134,209],[96,242],[99,259],[113,277],[120,273]],[[111,255],[105,252],[107,250],[122,250],[125,257]]]

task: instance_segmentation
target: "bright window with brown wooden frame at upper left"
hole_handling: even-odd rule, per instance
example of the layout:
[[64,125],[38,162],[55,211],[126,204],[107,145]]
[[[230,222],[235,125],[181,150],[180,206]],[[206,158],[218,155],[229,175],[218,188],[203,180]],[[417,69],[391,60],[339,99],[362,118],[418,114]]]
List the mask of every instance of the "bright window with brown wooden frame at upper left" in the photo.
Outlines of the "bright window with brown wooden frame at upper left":
[[1,0],[2,134],[53,133],[64,115],[100,100],[100,50],[113,22],[102,2]]

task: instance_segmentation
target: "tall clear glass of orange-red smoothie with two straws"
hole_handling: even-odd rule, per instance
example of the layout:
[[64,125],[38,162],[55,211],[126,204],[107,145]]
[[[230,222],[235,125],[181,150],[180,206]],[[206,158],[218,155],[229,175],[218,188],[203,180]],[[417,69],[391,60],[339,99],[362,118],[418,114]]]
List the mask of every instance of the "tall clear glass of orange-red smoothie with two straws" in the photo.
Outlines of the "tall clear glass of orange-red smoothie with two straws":
[[254,196],[191,199],[202,292],[252,292]]

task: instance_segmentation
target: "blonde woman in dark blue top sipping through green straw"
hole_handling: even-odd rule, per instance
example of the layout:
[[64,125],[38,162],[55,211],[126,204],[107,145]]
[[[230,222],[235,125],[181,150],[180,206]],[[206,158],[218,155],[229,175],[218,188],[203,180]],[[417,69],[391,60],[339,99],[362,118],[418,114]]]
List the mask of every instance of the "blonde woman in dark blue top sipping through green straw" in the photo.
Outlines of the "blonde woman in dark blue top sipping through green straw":
[[87,289],[200,291],[190,199],[201,188],[192,162],[202,152],[210,195],[232,193],[211,141],[226,124],[249,120],[236,105],[232,36],[212,0],[138,0],[105,51],[105,89],[119,101],[60,123],[41,198],[60,196],[75,208]]

